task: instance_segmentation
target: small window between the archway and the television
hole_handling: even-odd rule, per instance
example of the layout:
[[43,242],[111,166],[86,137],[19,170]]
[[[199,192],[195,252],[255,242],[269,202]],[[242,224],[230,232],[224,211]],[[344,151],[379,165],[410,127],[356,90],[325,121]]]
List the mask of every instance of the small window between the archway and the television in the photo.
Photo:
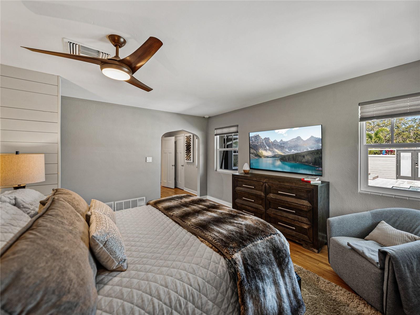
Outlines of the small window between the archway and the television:
[[238,126],[215,129],[215,149],[215,171],[236,173],[239,162]]

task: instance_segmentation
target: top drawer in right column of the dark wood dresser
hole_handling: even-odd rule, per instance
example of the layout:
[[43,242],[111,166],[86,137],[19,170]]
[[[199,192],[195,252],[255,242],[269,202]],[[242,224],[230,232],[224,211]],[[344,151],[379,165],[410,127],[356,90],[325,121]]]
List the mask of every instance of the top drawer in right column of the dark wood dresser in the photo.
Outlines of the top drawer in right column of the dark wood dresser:
[[271,183],[267,183],[265,189],[267,197],[312,206],[312,189]]

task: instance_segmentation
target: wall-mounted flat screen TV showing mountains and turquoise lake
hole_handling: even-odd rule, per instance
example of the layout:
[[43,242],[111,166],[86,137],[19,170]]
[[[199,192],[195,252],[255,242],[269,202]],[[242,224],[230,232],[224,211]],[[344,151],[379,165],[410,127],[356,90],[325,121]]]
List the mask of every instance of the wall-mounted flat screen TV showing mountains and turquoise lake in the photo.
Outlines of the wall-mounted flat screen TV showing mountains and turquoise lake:
[[322,125],[249,133],[251,169],[322,176]]

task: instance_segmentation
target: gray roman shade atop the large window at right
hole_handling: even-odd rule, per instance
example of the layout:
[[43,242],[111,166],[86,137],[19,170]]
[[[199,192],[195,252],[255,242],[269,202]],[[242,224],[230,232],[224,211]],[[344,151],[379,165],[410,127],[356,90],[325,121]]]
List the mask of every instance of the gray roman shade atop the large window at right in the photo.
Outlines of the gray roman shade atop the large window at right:
[[359,103],[359,121],[420,115],[420,93]]

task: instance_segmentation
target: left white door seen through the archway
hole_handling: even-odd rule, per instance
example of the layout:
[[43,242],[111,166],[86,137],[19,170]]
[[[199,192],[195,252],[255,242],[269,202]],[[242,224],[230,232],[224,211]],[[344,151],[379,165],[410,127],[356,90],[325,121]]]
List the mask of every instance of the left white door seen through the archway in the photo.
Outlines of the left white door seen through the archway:
[[175,137],[162,138],[161,185],[175,188]]

